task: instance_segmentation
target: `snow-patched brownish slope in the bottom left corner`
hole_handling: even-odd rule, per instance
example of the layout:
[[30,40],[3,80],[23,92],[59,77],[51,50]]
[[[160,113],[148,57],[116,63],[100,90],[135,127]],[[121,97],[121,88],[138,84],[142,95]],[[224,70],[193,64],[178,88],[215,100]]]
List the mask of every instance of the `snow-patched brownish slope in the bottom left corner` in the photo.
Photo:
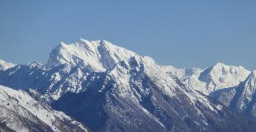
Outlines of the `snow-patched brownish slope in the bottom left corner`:
[[0,86],[0,108],[0,123],[9,130],[86,131],[81,123],[42,106],[22,90]]

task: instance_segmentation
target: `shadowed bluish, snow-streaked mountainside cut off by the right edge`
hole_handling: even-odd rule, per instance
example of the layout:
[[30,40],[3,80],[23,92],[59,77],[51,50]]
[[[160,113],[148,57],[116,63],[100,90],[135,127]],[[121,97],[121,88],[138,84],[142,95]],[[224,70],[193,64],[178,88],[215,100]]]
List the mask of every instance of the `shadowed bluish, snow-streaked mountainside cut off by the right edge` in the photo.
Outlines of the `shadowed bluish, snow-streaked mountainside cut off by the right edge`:
[[218,90],[210,96],[231,109],[256,119],[256,71],[252,71],[238,87]]

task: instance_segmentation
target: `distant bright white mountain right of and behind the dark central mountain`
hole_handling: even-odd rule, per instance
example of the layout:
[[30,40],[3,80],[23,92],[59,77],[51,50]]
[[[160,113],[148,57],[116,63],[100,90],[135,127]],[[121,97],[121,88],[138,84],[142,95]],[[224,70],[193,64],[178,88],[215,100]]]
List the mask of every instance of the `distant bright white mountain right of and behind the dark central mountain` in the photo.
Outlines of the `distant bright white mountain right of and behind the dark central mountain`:
[[199,68],[177,69],[175,67],[163,67],[163,70],[173,73],[187,87],[196,89],[204,95],[209,95],[218,89],[236,87],[250,73],[244,67],[224,65],[223,63],[202,70]]

